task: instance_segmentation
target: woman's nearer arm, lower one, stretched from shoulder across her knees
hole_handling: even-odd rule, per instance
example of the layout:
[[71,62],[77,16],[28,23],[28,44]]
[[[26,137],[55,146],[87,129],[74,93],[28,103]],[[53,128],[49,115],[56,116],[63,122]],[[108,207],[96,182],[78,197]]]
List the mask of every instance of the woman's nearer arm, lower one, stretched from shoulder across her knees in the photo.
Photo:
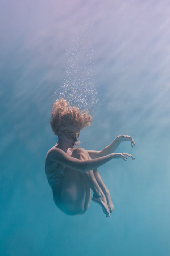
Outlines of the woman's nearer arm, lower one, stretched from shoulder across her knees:
[[56,161],[59,164],[62,164],[68,168],[80,172],[89,172],[90,170],[94,170],[99,166],[106,164],[113,158],[122,158],[126,161],[127,157],[131,157],[134,160],[134,157],[127,153],[112,153],[107,156],[81,161],[80,159],[68,156],[63,150],[55,148],[50,151],[46,161]]

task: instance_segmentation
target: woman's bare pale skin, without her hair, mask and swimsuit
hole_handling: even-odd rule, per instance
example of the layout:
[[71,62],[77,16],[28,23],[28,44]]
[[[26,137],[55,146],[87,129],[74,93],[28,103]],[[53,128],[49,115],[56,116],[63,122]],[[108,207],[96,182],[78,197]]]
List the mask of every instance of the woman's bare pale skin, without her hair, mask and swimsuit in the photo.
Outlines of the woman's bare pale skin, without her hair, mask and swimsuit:
[[[73,131],[78,132],[77,127]],[[63,165],[67,167],[62,184],[52,187],[53,199],[56,206],[67,215],[82,215],[90,205],[91,189],[92,201],[98,203],[106,217],[110,217],[114,205],[110,193],[103,183],[97,168],[112,159],[127,157],[135,158],[127,153],[114,153],[123,141],[130,141],[135,145],[132,137],[119,135],[114,141],[101,151],[86,151],[83,148],[74,148],[76,139],[69,139],[60,131],[58,142],[53,146],[45,158],[45,173],[50,175]]]

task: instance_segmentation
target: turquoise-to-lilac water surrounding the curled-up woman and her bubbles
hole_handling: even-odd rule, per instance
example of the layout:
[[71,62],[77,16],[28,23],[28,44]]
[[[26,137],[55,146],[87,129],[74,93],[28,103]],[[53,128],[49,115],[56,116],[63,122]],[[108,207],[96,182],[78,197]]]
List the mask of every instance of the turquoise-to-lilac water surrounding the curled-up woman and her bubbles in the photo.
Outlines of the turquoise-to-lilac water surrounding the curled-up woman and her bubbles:
[[[1,255],[169,256],[169,12],[165,0],[1,1]],[[45,177],[51,106],[78,34],[93,62],[75,59],[92,66],[84,80],[98,94],[81,146],[101,150],[119,134],[136,142],[117,150],[135,161],[99,168],[111,218],[93,202],[62,214]]]

